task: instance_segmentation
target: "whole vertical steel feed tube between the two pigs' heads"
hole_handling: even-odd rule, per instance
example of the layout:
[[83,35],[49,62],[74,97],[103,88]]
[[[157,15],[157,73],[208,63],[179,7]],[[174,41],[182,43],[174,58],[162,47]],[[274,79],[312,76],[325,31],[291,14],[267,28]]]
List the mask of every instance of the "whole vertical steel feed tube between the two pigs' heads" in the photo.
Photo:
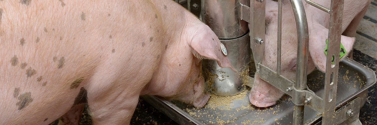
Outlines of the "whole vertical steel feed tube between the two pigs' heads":
[[[232,96],[242,92],[242,81],[248,81],[250,65],[250,37],[247,22],[241,20],[241,3],[246,0],[204,0],[203,21],[215,32],[227,48],[227,57],[237,73],[221,68],[215,60],[203,61],[203,70],[211,92],[221,96]],[[224,53],[225,54],[225,53]],[[240,75],[243,73],[244,75]],[[209,75],[209,76],[208,76]],[[209,77],[209,78],[208,78]]]

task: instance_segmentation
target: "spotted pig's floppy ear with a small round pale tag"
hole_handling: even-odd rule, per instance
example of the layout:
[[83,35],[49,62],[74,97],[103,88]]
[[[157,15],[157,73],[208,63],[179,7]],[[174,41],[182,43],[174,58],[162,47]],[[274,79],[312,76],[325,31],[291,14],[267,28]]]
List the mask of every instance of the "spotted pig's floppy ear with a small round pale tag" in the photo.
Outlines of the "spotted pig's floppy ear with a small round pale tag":
[[231,66],[228,58],[222,53],[219,38],[207,25],[192,30],[196,31],[190,31],[194,32],[195,35],[192,39],[189,39],[191,40],[189,41],[189,45],[196,57],[199,59],[216,60],[219,66],[228,67],[234,72],[237,72],[233,66]]

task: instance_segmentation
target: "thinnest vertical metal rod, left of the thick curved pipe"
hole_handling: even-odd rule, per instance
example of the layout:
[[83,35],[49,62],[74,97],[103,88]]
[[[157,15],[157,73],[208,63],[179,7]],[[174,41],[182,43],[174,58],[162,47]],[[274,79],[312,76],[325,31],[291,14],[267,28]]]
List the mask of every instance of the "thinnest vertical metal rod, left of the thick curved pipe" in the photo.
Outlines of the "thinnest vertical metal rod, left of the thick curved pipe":
[[280,75],[281,60],[282,60],[282,5],[283,0],[279,0],[277,12],[277,69],[276,72]]

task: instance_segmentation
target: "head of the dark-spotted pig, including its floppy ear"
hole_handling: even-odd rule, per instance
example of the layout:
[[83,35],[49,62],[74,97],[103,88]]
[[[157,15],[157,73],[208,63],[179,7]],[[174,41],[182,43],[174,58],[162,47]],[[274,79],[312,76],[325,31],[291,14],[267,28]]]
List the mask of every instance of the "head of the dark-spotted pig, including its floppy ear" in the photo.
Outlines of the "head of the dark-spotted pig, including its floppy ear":
[[197,18],[187,21],[182,32],[178,33],[179,38],[166,47],[159,68],[160,77],[155,80],[166,83],[158,90],[163,93],[158,95],[202,107],[207,103],[210,93],[205,90],[201,60],[213,59],[219,66],[235,70],[222,53],[221,43],[215,33]]

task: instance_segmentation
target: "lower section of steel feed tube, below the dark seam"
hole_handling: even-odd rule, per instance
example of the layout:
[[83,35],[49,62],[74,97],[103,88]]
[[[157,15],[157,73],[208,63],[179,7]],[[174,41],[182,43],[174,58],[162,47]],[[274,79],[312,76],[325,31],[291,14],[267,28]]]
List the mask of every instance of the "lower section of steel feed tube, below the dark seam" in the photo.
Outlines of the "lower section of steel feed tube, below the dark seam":
[[205,79],[208,86],[212,87],[211,92],[221,96],[232,96],[242,92],[243,80],[248,80],[249,40],[250,37],[247,34],[238,39],[221,40],[227,48],[227,57],[238,71],[237,73],[230,68],[221,68],[215,60],[203,60],[203,70],[207,75]]

